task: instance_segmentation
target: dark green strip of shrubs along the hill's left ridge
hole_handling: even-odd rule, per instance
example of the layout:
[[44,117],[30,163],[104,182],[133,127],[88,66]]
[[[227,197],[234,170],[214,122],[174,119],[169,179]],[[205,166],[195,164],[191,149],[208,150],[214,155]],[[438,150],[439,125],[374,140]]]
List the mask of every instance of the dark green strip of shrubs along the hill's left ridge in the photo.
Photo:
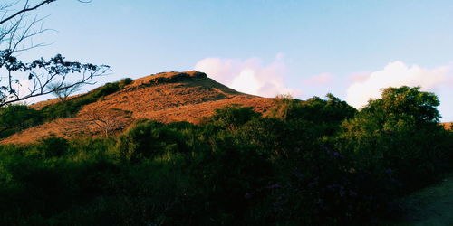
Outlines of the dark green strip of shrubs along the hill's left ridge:
[[55,118],[70,118],[87,104],[123,89],[133,80],[123,79],[113,83],[106,83],[100,88],[79,97],[48,105],[36,110],[25,105],[9,105],[0,108],[0,138],[13,135],[27,127],[34,127]]

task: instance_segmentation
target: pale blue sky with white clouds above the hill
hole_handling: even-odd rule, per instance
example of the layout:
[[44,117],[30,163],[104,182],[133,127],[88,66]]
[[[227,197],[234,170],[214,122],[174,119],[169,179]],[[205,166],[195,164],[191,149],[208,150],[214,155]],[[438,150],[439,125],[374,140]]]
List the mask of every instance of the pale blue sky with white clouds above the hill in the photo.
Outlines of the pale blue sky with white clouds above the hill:
[[98,86],[198,70],[246,93],[331,92],[356,108],[383,88],[420,86],[453,121],[451,0],[58,0],[35,13],[53,30],[24,57],[111,65]]

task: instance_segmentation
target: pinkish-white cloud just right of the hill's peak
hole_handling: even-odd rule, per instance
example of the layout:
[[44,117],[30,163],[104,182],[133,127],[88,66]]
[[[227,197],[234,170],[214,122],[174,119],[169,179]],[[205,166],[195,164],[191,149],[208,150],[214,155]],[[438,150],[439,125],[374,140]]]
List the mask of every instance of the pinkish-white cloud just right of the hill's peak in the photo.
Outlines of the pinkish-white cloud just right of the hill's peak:
[[275,97],[278,94],[297,95],[299,93],[284,85],[286,67],[282,53],[278,53],[275,61],[268,65],[263,65],[259,58],[250,58],[245,61],[206,58],[197,62],[195,70],[206,72],[209,78],[249,94]]

